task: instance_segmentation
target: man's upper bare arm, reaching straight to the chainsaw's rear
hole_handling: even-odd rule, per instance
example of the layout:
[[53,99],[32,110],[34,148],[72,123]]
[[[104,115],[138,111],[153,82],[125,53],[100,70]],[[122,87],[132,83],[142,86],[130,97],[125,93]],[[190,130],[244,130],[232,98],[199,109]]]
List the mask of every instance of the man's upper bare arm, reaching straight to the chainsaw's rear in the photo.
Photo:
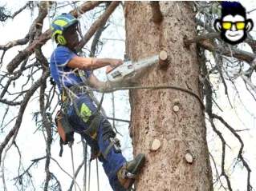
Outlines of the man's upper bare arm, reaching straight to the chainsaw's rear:
[[96,70],[104,66],[113,66],[117,67],[122,64],[120,59],[112,58],[82,58],[75,56],[67,62],[67,66],[71,68],[79,68],[81,70]]

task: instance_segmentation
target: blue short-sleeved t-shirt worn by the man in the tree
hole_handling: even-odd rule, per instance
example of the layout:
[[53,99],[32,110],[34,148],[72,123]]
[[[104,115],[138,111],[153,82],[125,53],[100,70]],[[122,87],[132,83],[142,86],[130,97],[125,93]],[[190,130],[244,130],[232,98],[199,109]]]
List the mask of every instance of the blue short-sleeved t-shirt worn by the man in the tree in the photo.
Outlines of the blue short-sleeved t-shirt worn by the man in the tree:
[[[69,87],[77,84],[83,84],[83,80],[79,77],[78,70],[67,66],[67,62],[69,62],[71,58],[74,58],[75,56],[76,54],[69,50],[66,46],[57,47],[51,54],[51,77],[54,78],[60,92],[62,92],[62,86]],[[88,78],[92,72],[86,71],[86,74]]]

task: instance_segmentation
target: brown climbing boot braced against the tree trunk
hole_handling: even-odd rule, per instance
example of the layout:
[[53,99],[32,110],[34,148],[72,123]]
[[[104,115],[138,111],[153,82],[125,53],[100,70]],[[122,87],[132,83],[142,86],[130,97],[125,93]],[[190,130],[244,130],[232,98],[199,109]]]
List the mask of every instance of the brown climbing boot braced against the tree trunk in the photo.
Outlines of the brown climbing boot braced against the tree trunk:
[[124,185],[125,189],[131,189],[132,185],[140,172],[140,169],[144,166],[145,156],[139,153],[132,161],[124,164],[117,172],[119,181]]

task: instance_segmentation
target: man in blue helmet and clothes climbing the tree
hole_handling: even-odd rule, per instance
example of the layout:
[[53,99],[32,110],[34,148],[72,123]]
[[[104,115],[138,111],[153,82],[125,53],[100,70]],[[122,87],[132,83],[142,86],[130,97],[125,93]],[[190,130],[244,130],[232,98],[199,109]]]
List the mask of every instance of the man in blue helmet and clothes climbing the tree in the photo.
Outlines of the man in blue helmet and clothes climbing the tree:
[[[144,154],[139,153],[130,162],[125,160],[112,125],[84,91],[87,86],[108,87],[108,83],[100,82],[91,70],[104,66],[117,67],[122,61],[110,58],[81,58],[76,55],[75,46],[79,44],[77,23],[78,20],[71,14],[61,14],[51,24],[51,38],[58,43],[58,47],[51,55],[50,70],[62,94],[63,115],[67,117],[74,131],[80,133],[91,146],[91,153],[103,163],[112,189],[129,190],[144,165]],[[80,76],[79,70],[86,71],[84,78]]]

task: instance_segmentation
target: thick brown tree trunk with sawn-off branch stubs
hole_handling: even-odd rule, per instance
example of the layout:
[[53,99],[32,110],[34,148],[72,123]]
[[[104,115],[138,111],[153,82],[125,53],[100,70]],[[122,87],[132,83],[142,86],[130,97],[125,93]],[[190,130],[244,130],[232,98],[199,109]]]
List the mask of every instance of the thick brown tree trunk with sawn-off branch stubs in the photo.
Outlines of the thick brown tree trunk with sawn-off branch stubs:
[[[162,19],[152,15],[159,11],[152,11],[150,2],[125,2],[127,57],[136,61],[161,50],[169,54],[167,68],[151,67],[136,86],[177,86],[202,99],[196,47],[183,44],[196,35],[195,14],[189,2],[160,2],[160,7]],[[213,190],[201,102],[173,89],[132,90],[130,101],[134,155],[147,158],[136,191]]]

